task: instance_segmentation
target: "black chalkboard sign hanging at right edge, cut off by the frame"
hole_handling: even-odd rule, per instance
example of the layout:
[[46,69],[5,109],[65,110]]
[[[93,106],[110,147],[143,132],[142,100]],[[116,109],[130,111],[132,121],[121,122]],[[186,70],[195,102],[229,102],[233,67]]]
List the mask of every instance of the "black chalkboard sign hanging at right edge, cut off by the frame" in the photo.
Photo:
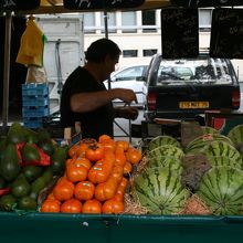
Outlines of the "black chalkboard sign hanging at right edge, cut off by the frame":
[[214,9],[210,56],[243,59],[243,9]]

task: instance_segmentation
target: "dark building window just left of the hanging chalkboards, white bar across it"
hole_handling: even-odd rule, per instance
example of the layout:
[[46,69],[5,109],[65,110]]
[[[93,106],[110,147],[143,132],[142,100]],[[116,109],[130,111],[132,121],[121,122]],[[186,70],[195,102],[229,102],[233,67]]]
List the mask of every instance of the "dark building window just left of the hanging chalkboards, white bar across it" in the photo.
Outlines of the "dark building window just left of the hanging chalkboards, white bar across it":
[[142,32],[156,32],[156,11],[145,10],[141,12]]

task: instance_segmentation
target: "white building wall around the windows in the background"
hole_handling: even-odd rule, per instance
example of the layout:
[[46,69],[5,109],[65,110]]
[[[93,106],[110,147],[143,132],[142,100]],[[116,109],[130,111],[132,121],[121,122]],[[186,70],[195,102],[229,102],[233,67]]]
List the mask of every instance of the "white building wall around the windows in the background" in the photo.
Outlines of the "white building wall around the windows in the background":
[[[209,9],[210,10],[210,9]],[[122,27],[122,12],[116,12],[116,32],[115,33],[108,33],[108,38],[113,41],[115,41],[122,50],[137,50],[138,56],[137,57],[124,57],[120,56],[119,64],[117,67],[122,66],[128,66],[131,64],[145,64],[149,63],[151,56],[144,56],[142,50],[149,50],[149,49],[156,49],[158,50],[158,53],[161,53],[161,23],[160,23],[160,10],[156,10],[156,24],[152,28],[156,28],[156,32],[150,33],[144,33],[142,32],[142,15],[141,11],[136,12],[136,27],[131,25],[131,28],[136,28],[136,33],[123,33]],[[87,46],[95,40],[99,38],[105,38],[105,33],[102,33],[102,12],[96,12],[96,32],[93,34],[85,33],[84,35],[84,49],[86,50]],[[209,14],[210,15],[210,14]],[[210,22],[209,20],[208,22]],[[207,23],[207,21],[203,21],[203,23]],[[103,24],[104,27],[104,24]],[[199,46],[200,49],[208,49],[210,46],[210,25],[205,25],[207,29],[200,29],[199,33]],[[84,30],[87,27],[84,25]],[[204,28],[204,25],[203,25]],[[243,82],[243,60],[233,60],[233,64],[235,67],[235,71],[239,71],[240,81]]]

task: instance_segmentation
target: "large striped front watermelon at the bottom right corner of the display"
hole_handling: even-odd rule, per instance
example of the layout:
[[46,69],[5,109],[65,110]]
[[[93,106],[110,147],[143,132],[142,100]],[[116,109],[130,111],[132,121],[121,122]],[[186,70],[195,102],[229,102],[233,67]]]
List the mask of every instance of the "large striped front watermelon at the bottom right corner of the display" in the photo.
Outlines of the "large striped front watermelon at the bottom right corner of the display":
[[243,171],[213,167],[203,175],[196,194],[216,215],[240,214],[243,207]]

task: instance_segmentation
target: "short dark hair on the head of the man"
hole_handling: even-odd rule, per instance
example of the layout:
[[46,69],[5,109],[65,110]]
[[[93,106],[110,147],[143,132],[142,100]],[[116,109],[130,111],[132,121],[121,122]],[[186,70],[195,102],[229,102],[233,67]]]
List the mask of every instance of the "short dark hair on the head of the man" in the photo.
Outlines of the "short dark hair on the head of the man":
[[85,57],[89,62],[101,63],[105,60],[106,55],[115,60],[119,57],[120,53],[120,49],[115,42],[104,38],[89,45],[85,52]]

